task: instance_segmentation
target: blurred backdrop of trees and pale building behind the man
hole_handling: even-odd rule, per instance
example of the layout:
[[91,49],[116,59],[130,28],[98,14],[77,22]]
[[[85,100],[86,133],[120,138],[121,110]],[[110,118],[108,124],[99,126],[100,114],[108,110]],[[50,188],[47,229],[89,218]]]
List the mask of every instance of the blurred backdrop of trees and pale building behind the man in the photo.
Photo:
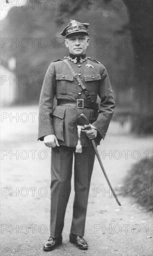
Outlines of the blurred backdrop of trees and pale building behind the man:
[[152,132],[152,0],[3,0],[1,19],[2,106],[38,104],[47,67],[68,54],[60,32],[75,19],[90,23],[87,54],[110,76],[113,121]]

